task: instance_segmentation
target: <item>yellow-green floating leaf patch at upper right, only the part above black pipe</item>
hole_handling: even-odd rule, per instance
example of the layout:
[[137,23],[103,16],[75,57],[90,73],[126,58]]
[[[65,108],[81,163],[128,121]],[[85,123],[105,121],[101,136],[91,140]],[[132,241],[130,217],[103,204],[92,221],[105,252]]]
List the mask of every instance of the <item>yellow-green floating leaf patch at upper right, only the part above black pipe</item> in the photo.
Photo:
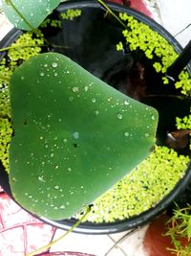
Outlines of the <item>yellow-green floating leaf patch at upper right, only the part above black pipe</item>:
[[127,29],[122,34],[130,50],[140,49],[147,58],[159,58],[159,61],[154,63],[154,67],[157,72],[165,73],[167,67],[178,57],[173,46],[164,37],[133,16],[119,13],[119,17],[121,20],[127,21]]

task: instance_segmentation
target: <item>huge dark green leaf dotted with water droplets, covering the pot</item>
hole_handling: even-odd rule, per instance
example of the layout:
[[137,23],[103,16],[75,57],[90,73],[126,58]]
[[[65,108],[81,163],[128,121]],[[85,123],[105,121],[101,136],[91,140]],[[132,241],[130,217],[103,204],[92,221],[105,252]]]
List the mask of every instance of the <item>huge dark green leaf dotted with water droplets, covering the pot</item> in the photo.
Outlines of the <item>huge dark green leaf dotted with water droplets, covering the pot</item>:
[[42,54],[11,77],[10,183],[33,213],[68,218],[113,186],[155,143],[156,109],[70,58]]

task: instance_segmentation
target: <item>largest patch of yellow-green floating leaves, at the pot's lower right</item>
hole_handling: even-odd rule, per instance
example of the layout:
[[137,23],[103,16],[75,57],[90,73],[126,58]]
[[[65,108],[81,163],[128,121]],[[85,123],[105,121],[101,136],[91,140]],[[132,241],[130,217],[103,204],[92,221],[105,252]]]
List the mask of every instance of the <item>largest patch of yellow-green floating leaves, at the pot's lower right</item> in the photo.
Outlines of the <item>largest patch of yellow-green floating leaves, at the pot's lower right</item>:
[[178,155],[167,147],[156,147],[132,173],[96,198],[86,221],[125,220],[149,210],[172,191],[188,162],[188,156]]

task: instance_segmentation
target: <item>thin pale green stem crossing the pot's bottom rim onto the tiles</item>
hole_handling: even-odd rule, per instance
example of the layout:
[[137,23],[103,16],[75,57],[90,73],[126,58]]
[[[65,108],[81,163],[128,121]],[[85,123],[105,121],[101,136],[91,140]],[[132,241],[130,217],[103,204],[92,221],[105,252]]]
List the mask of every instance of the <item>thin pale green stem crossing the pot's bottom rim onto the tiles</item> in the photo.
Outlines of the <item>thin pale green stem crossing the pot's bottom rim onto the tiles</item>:
[[74,228],[77,227],[86,218],[86,216],[90,213],[90,211],[91,211],[91,206],[88,207],[87,212],[82,216],[82,218],[79,221],[76,221],[76,223],[74,223],[74,225],[64,235],[62,235],[59,238],[55,239],[52,243],[47,244],[45,246],[42,246],[41,248],[38,248],[38,249],[34,250],[31,253],[28,253],[26,256],[33,256],[36,253],[40,253],[40,252],[42,252],[42,251],[44,251],[46,249],[49,249],[53,244],[56,244],[57,242],[62,240],[64,237],[66,237],[71,232],[73,232]]

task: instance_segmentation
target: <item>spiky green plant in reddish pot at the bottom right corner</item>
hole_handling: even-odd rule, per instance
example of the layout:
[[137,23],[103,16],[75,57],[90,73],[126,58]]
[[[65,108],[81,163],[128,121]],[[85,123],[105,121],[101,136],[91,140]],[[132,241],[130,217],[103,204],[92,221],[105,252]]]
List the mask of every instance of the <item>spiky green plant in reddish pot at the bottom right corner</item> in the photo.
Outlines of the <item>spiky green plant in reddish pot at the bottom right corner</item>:
[[[175,246],[169,250],[179,256],[191,255],[191,205],[175,209],[173,217],[166,224],[168,231],[165,236],[170,236]],[[184,240],[183,243],[181,239]]]

